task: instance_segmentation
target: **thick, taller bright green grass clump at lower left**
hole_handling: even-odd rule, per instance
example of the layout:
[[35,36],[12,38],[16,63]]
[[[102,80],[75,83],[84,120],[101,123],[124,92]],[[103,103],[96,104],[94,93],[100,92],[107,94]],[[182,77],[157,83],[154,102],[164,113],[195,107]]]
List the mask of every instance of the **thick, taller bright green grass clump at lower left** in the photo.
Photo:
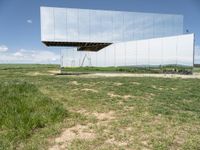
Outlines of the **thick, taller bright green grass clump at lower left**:
[[30,83],[0,81],[0,149],[15,149],[40,128],[68,113]]

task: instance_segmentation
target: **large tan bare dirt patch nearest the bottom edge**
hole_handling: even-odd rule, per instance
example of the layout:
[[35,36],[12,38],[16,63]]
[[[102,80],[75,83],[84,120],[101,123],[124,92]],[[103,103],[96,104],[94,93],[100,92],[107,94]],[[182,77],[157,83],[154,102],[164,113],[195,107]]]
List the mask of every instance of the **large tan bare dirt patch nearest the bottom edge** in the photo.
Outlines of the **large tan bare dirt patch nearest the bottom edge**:
[[88,126],[76,125],[65,129],[65,131],[54,140],[55,145],[49,148],[49,150],[66,149],[67,146],[69,146],[69,144],[75,139],[93,140],[95,137],[95,133],[89,129]]

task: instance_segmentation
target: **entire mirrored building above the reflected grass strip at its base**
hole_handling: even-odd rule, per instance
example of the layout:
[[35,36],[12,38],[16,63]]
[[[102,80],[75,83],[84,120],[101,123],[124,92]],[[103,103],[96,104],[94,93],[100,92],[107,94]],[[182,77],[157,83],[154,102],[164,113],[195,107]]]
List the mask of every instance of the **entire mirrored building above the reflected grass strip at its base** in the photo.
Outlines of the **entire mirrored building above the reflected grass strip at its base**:
[[183,16],[41,7],[41,40],[61,46],[61,66],[193,66]]

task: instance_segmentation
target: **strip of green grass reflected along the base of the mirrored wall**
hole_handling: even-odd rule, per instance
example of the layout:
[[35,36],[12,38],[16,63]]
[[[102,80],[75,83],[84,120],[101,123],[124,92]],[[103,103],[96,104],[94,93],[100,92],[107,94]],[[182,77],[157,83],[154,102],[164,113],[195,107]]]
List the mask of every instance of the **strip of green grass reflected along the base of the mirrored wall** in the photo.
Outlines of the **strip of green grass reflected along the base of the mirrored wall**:
[[176,74],[191,74],[192,67],[187,66],[151,66],[151,67],[65,67],[62,68],[62,73],[65,72],[128,72],[128,73],[176,73]]

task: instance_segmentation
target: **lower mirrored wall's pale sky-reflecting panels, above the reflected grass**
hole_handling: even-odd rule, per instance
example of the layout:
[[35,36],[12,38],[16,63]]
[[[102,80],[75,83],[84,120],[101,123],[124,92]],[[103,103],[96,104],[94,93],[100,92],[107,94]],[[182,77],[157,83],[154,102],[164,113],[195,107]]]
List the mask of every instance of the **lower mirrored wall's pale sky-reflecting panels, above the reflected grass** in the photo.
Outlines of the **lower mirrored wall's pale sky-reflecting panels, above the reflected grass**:
[[194,34],[112,44],[98,52],[63,50],[62,67],[193,66]]

